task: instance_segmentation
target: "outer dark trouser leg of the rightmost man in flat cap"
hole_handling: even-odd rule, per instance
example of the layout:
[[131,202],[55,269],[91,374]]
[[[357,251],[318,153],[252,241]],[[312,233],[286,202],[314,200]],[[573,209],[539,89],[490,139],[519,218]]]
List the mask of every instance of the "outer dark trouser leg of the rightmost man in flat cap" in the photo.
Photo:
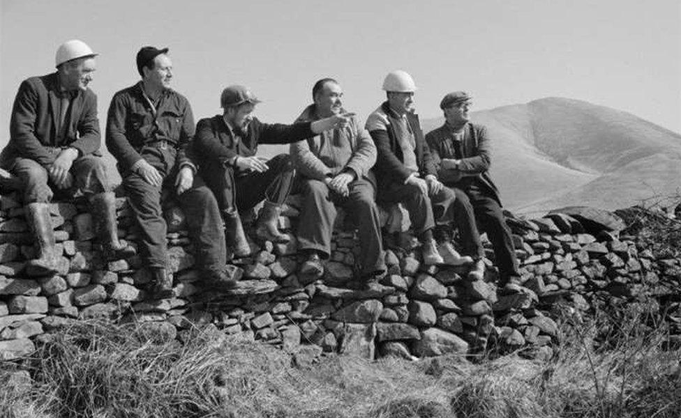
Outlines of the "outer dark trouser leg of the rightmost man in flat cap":
[[519,276],[518,259],[511,239],[511,229],[504,221],[504,214],[499,202],[491,197],[483,187],[477,185],[465,187],[465,195],[461,199],[466,199],[472,205],[481,230],[487,233],[490,242],[492,242],[501,278],[508,279],[510,276]]

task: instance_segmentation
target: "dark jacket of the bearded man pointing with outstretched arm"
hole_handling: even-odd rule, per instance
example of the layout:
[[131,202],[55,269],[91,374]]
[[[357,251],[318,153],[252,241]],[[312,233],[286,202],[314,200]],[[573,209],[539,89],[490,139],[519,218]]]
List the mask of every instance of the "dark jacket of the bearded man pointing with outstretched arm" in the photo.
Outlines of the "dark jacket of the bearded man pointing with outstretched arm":
[[216,115],[201,119],[197,124],[194,150],[201,165],[206,162],[225,164],[236,156],[252,157],[257,153],[258,144],[291,144],[314,135],[310,122],[284,125],[262,123],[253,118],[244,137],[236,141],[223,116]]

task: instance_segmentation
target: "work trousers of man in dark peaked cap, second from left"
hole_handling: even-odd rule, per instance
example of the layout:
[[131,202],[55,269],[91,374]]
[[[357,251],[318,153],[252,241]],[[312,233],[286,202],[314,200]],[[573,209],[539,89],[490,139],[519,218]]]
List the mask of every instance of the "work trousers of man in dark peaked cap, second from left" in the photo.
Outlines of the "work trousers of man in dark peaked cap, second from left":
[[225,231],[218,204],[200,176],[194,176],[190,189],[176,196],[176,152],[173,148],[145,146],[140,155],[163,177],[163,185],[147,183],[142,176],[128,171],[123,186],[128,203],[140,226],[140,255],[151,268],[167,268],[167,225],[163,219],[161,196],[175,196],[187,220],[187,229],[195,247],[197,265],[202,270],[220,270],[227,263]]

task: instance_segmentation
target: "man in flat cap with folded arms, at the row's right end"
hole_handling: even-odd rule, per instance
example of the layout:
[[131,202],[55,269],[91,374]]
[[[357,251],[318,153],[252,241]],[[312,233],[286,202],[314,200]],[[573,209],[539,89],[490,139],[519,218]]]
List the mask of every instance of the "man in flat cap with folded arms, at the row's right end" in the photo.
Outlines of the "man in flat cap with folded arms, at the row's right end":
[[472,206],[477,222],[492,242],[500,287],[518,274],[518,261],[511,240],[511,231],[504,221],[499,191],[489,175],[491,147],[483,125],[471,123],[468,110],[471,97],[463,91],[449,93],[442,98],[444,125],[426,134],[439,178],[445,186],[461,190]]

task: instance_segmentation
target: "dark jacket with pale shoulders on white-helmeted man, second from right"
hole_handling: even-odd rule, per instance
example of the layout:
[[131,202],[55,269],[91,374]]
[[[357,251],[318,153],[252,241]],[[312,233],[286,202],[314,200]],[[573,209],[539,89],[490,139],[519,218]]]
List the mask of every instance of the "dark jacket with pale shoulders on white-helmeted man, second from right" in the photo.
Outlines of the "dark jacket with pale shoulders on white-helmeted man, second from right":
[[[395,123],[398,123],[399,117],[390,109],[388,102],[384,102],[381,105],[381,109],[387,115],[388,121],[390,122],[387,125],[387,130],[369,131],[374,144],[376,144],[376,164],[372,170],[375,173],[379,189],[382,185],[393,182],[405,183],[407,177],[412,173],[412,171],[407,169],[403,164],[404,157],[402,155],[402,147],[399,144],[393,127]],[[369,118],[371,118],[371,116],[369,116]],[[426,144],[426,140],[424,139],[424,132],[421,130],[419,116],[417,114],[407,113],[407,121],[414,133],[414,142],[416,144],[414,153],[416,154],[416,160],[419,166],[419,175],[421,178],[425,178],[429,174],[437,177],[437,169],[435,168],[435,164],[433,164],[430,150],[428,150],[428,144]]]

